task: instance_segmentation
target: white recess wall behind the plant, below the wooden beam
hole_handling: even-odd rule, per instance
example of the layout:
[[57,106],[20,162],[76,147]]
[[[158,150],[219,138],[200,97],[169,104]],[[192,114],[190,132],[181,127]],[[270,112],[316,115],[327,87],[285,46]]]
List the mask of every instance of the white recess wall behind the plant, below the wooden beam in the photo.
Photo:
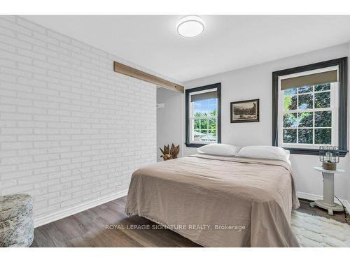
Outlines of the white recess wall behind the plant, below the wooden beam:
[[164,145],[180,145],[179,156],[182,154],[182,96],[179,92],[158,88],[157,103],[165,104],[164,108],[157,109],[157,160],[163,161],[159,147],[163,148]]

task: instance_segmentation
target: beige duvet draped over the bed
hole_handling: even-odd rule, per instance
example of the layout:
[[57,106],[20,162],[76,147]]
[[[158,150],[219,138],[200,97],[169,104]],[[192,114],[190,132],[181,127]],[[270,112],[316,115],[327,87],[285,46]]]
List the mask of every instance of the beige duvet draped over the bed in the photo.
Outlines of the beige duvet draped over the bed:
[[125,211],[205,247],[299,247],[298,207],[288,163],[196,154],[136,170]]

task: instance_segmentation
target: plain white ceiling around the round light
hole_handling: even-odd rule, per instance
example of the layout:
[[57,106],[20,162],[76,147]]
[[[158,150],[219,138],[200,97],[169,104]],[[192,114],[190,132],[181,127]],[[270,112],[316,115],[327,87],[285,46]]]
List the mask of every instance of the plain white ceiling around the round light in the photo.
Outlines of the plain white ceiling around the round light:
[[181,15],[26,15],[28,20],[186,82],[350,41],[350,16],[202,15],[196,38]]

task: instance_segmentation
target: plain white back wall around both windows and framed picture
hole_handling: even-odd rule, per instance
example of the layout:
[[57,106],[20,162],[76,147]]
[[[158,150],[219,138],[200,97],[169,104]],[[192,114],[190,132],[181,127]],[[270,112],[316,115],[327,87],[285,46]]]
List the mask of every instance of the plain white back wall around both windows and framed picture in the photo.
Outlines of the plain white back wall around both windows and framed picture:
[[[316,63],[349,55],[349,44],[337,45],[324,50],[316,50],[285,59],[271,61],[265,64],[241,68],[239,70],[211,75],[185,83],[186,89],[221,82],[222,99],[222,143],[232,145],[272,145],[272,72],[295,66]],[[247,99],[260,99],[260,122],[230,123],[230,102]],[[183,111],[183,122],[184,122]],[[184,132],[184,130],[183,130]],[[185,136],[183,136],[185,137]],[[185,141],[183,141],[184,143]],[[185,148],[184,154],[195,153],[194,148]],[[321,173],[313,170],[319,166],[317,156],[297,155],[291,157],[293,174],[297,191],[308,194],[323,195]],[[350,201],[350,165],[349,154],[342,158],[339,167],[347,168],[346,175],[335,177],[335,194]],[[347,167],[346,167],[347,165]],[[312,198],[312,196],[309,196]]]

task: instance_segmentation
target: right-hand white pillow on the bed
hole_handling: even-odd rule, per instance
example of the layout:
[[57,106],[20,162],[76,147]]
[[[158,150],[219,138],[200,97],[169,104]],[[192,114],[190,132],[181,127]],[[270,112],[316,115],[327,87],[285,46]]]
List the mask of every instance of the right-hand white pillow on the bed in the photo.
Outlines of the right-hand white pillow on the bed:
[[242,147],[236,157],[250,157],[253,159],[275,159],[289,163],[289,151],[282,147],[272,147],[269,145],[251,145]]

